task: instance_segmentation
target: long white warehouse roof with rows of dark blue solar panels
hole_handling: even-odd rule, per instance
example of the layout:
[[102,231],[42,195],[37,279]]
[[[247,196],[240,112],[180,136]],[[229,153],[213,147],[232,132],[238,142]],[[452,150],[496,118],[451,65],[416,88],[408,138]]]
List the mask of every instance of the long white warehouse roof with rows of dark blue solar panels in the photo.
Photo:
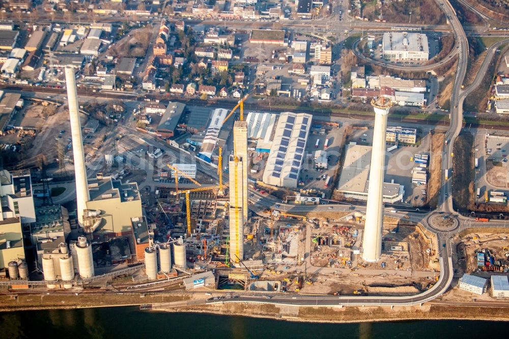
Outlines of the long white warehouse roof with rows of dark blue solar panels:
[[297,188],[312,119],[306,113],[281,113],[263,173],[264,183]]

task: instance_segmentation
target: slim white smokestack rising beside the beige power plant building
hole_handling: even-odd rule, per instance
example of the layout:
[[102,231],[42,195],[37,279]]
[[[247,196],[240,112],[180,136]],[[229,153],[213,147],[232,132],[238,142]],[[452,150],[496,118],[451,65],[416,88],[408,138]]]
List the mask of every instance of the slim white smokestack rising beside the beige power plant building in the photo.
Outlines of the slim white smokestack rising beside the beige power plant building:
[[87,209],[90,193],[87,183],[87,170],[83,153],[83,140],[81,138],[81,123],[79,121],[78,93],[74,67],[65,67],[65,80],[67,86],[67,103],[69,105],[69,120],[71,122],[72,153],[74,157],[74,176],[76,181],[76,216],[78,223],[83,227],[83,212]]

